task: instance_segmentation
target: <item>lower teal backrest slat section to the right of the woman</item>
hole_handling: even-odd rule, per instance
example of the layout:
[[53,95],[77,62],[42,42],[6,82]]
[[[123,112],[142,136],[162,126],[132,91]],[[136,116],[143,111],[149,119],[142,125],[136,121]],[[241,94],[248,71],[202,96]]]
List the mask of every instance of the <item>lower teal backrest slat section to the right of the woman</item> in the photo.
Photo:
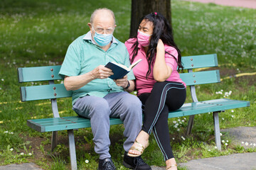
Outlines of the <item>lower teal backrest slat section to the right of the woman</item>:
[[180,76],[187,86],[220,82],[220,72],[218,70],[181,73]]

